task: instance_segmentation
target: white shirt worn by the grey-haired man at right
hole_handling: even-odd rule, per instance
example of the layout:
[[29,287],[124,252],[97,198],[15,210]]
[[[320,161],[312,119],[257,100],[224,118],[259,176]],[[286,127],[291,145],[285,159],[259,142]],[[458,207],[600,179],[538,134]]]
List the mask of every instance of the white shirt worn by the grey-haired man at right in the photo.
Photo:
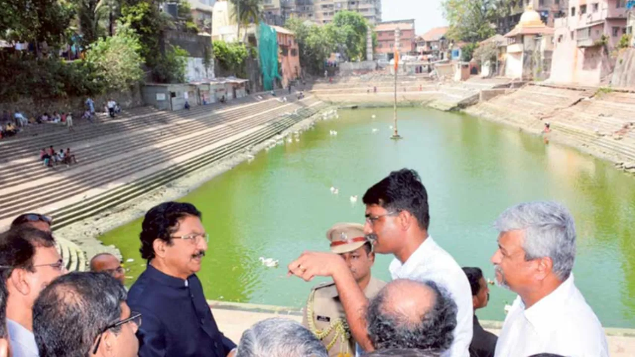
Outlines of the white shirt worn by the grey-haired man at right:
[[608,357],[604,329],[573,284],[573,274],[528,309],[517,297],[505,318],[495,357],[537,353]]

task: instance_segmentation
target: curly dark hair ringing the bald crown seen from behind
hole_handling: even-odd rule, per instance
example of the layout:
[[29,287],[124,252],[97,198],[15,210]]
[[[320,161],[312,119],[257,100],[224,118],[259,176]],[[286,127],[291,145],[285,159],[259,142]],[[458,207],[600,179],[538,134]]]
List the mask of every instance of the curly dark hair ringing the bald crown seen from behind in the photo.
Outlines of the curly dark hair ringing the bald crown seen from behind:
[[[428,311],[418,316],[417,323],[410,323],[411,316],[387,311],[385,304],[391,284],[386,285],[370,301],[366,312],[368,337],[375,349],[431,349],[446,351],[454,339],[452,332],[457,327],[457,304],[450,293],[434,281],[424,284],[434,290],[436,299]],[[389,310],[389,309],[388,309]],[[415,312],[411,312],[415,313]]]

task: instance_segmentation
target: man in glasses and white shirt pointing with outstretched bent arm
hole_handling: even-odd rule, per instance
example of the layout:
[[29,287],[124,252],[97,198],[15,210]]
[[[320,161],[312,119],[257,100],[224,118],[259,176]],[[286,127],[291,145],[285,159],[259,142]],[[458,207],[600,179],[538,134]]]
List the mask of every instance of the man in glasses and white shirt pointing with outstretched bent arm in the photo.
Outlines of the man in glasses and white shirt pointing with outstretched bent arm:
[[[428,234],[430,213],[425,187],[415,170],[391,172],[364,194],[364,233],[373,241],[375,252],[395,256],[389,270],[393,280],[432,280],[444,286],[455,300],[457,327],[448,356],[469,356],[472,341],[472,290],[453,257]],[[288,265],[289,274],[306,281],[314,276],[331,276],[344,306],[351,334],[366,351],[375,347],[368,337],[364,311],[368,299],[359,288],[344,259],[337,254],[305,252]]]

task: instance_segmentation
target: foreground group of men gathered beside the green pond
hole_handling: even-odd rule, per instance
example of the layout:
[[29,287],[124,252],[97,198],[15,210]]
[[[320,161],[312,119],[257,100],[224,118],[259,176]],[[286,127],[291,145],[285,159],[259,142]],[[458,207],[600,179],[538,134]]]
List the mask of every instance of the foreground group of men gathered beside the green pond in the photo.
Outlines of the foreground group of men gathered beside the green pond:
[[[288,264],[305,281],[332,278],[311,289],[302,323],[259,321],[237,344],[221,332],[196,275],[210,232],[195,206],[166,202],[145,213],[147,266],[128,291],[114,255],[93,257],[90,273],[67,273],[51,218],[22,215],[0,235],[8,330],[0,323],[0,357],[8,346],[13,356],[41,357],[608,356],[605,332],[573,280],[576,232],[564,206],[521,203],[495,221],[496,280],[518,293],[497,337],[474,314],[489,299],[482,269],[460,267],[428,233],[418,174],[390,173],[363,202],[364,224],[335,224],[328,252]],[[375,254],[394,256],[391,282],[371,276]]]

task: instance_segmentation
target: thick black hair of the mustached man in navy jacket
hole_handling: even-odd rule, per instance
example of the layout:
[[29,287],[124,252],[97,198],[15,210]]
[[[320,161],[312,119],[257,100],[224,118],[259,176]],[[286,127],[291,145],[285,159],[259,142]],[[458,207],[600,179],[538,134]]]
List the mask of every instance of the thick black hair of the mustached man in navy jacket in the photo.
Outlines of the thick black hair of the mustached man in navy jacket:
[[164,202],[161,205],[154,206],[145,213],[144,222],[142,223],[141,233],[141,257],[146,260],[154,258],[154,239],[171,244],[171,235],[178,231],[178,220],[194,216],[201,218],[201,212],[191,203]]

